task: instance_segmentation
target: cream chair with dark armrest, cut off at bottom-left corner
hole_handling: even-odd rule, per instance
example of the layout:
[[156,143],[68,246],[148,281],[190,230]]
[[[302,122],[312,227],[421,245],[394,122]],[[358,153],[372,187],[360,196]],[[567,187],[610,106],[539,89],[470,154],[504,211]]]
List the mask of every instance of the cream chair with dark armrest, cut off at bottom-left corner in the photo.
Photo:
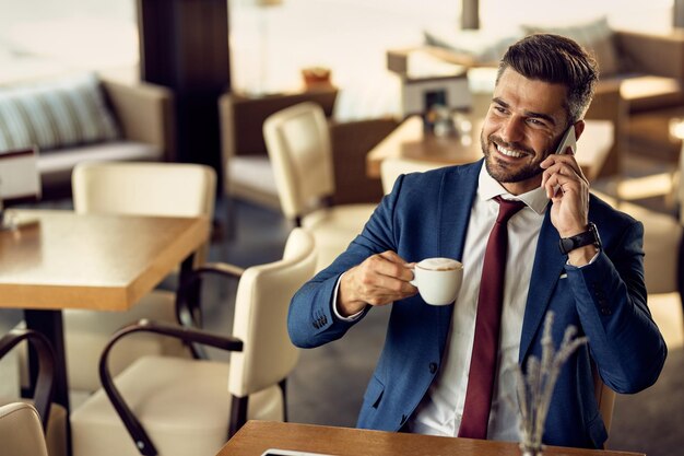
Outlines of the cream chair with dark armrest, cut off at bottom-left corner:
[[33,398],[22,399],[21,405],[14,404],[16,397],[0,397],[0,455],[42,455],[47,444],[50,456],[67,456],[67,410],[52,404],[56,361],[49,340],[40,332],[15,328],[0,338],[0,359],[23,342],[36,351],[35,389]]

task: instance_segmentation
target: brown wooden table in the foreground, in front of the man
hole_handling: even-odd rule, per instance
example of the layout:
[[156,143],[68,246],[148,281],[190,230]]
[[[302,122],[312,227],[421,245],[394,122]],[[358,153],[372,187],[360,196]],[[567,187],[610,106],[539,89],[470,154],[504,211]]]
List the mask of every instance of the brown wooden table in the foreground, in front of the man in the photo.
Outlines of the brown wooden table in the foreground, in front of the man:
[[[259,456],[268,448],[335,456],[520,456],[518,444],[310,424],[248,421],[216,456]],[[544,456],[637,456],[638,453],[549,446]],[[644,454],[640,454],[644,456]]]

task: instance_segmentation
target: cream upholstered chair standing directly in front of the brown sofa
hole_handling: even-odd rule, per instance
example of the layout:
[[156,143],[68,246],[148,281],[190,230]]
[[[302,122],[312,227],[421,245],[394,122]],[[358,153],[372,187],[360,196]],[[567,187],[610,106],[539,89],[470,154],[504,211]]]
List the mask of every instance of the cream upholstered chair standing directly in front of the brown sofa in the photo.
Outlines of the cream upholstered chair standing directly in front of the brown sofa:
[[322,108],[300,103],[269,116],[263,124],[281,209],[316,241],[317,270],[334,260],[362,232],[376,204],[331,206],[334,169]]

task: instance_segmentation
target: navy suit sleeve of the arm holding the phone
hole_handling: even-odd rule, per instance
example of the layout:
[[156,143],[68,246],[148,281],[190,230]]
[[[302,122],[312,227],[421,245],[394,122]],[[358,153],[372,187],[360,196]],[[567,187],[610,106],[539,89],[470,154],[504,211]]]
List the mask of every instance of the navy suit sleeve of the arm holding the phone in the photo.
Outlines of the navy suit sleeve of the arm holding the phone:
[[603,382],[632,394],[656,382],[668,349],[646,304],[644,226],[634,220],[623,226],[594,262],[566,268]]

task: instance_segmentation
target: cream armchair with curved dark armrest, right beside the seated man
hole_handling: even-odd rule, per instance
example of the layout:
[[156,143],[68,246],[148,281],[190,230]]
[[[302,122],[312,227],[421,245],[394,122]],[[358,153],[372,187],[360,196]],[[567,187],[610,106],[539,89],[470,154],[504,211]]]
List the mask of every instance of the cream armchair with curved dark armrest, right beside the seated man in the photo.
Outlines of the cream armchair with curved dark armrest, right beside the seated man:
[[[247,419],[286,419],[284,381],[298,358],[287,336],[287,309],[315,264],[312,237],[295,229],[282,260],[246,269],[231,337],[148,320],[118,331],[101,360],[104,389],[72,413],[74,456],[213,456]],[[216,266],[196,271],[211,272],[223,273]],[[113,382],[109,349],[138,331],[231,350],[229,364],[144,356]]]

